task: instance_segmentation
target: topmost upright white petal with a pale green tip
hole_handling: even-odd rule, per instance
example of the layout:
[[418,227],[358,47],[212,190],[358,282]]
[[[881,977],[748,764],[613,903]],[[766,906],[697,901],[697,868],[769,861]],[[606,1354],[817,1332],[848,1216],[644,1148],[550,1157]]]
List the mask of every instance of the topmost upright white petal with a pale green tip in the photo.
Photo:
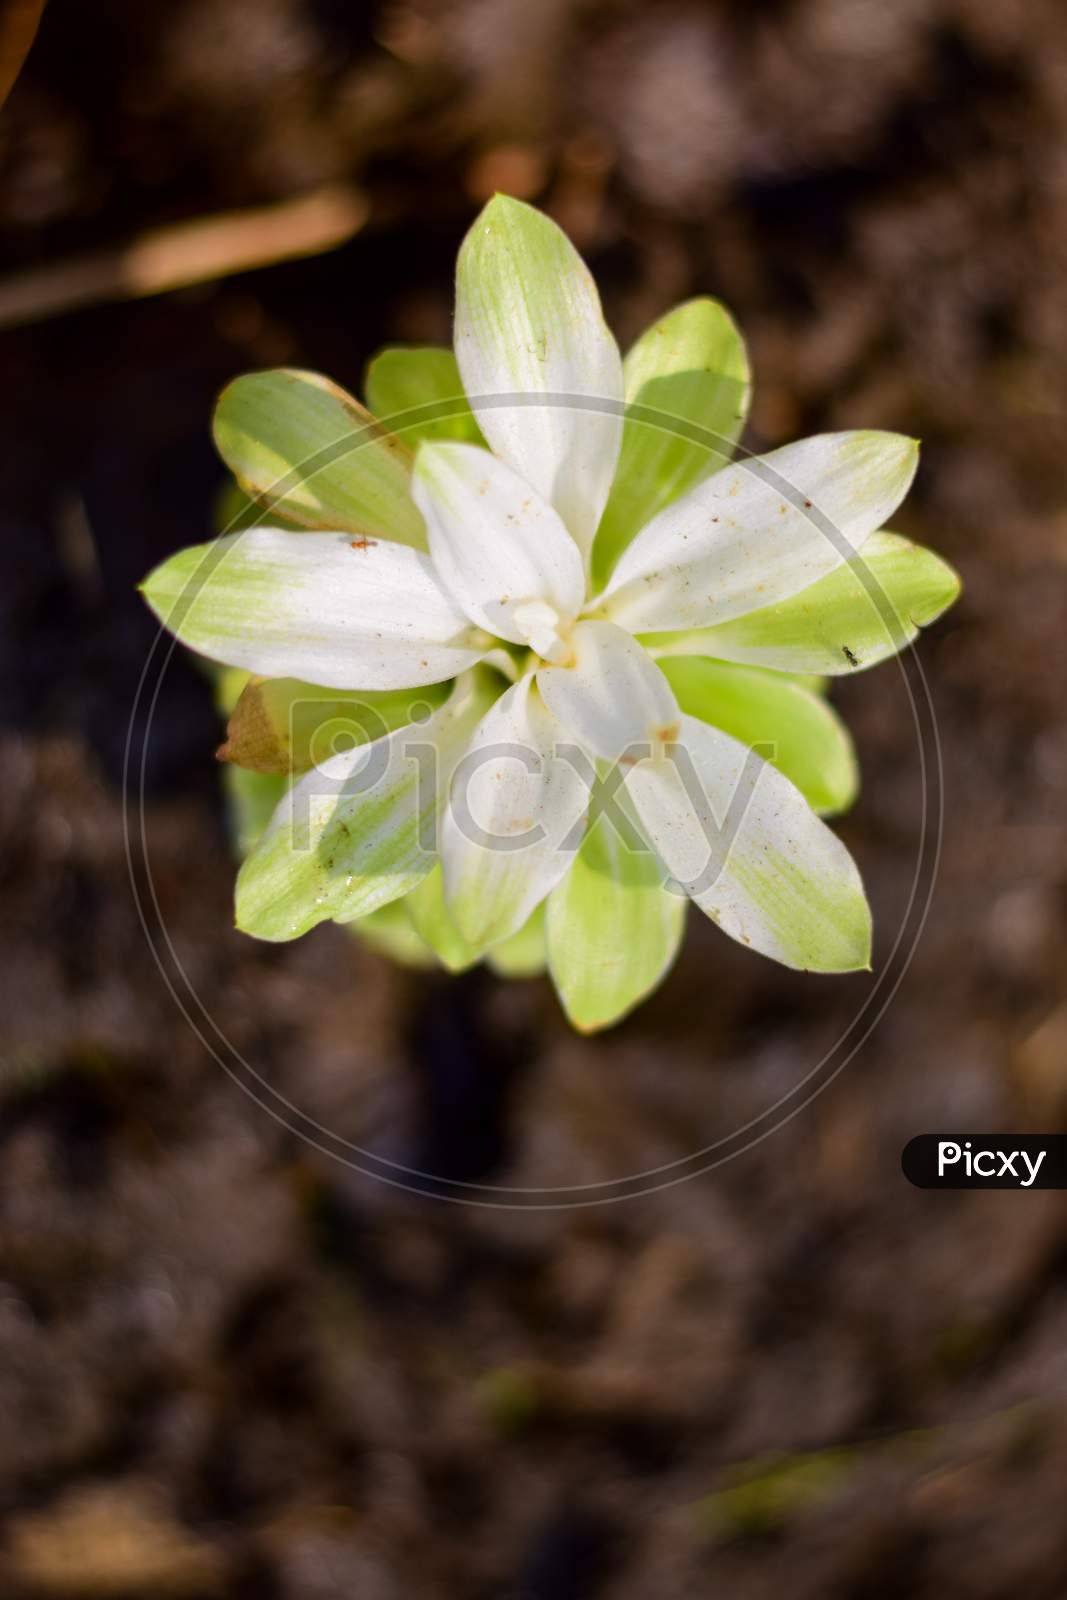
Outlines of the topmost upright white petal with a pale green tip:
[[581,256],[520,200],[490,200],[462,243],[456,360],[490,446],[587,555],[619,456],[622,363]]

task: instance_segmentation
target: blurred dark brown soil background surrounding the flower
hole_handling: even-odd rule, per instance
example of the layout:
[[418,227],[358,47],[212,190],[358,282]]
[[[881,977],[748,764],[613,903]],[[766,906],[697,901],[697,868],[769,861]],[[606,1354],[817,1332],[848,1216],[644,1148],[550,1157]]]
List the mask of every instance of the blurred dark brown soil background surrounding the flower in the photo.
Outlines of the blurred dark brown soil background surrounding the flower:
[[[1057,0],[46,6],[0,114],[0,307],[325,186],[363,221],[0,334],[5,1595],[1067,1594],[1064,1197],[899,1171],[918,1131],[1067,1128],[1065,128]],[[611,1205],[459,1186],[685,1162],[793,1091],[873,979],[694,920],[582,1040],[542,981],[411,974],[333,926],[248,941],[210,688],[174,659],[146,826],[176,957],[274,1091],[438,1176],[408,1194],[227,1077],[126,872],[134,584],[213,528],[214,394],[275,363],[358,387],[381,344],[446,341],[494,189],[568,227],[624,344],[693,293],[731,306],[750,446],[918,434],[896,526],[965,578],[920,646],[945,840],[894,1003],[773,1136]],[[912,710],[891,664],[835,699],[885,965]]]

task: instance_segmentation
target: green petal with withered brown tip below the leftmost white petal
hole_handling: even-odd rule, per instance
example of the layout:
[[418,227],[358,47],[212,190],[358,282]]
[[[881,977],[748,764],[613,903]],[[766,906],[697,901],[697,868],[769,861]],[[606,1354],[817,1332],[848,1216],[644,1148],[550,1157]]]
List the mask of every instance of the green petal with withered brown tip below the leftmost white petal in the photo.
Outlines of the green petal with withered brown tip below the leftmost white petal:
[[221,762],[293,778],[339,750],[421,720],[448,698],[448,685],[421,690],[323,690],[299,678],[246,682],[226,728]]

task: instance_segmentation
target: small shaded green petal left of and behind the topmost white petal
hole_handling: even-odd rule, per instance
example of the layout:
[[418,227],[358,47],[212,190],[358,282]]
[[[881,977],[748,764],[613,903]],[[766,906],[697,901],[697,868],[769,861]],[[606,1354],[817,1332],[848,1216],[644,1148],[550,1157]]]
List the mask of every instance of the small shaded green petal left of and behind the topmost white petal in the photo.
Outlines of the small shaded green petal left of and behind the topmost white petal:
[[411,448],[424,438],[485,443],[456,357],[442,346],[398,344],[379,350],[366,368],[363,389],[381,426]]

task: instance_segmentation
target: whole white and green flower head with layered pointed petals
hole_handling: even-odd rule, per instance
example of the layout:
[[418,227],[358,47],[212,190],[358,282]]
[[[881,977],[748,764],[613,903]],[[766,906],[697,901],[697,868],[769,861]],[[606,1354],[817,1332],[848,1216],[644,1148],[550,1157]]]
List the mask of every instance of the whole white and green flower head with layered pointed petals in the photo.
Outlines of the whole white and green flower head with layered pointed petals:
[[366,398],[232,382],[216,442],[259,523],[144,584],[230,669],[238,926],[547,965],[584,1030],[656,987],[689,899],[789,966],[865,968],[821,821],[856,762],[821,688],[958,592],[885,531],[915,442],[731,461],[749,365],[723,307],[677,307],[622,362],[566,237],[502,197],[459,254],[454,354],[384,350]]

